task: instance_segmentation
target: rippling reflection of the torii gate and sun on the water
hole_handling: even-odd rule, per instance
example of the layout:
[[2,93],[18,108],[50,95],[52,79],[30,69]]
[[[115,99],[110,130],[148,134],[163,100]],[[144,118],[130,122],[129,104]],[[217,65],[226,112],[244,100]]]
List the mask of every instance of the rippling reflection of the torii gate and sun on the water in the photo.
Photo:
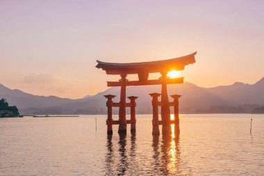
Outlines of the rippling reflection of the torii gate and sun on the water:
[[[170,115],[170,120],[174,120],[174,114]],[[131,134],[131,138],[126,135],[119,135],[117,141],[115,136],[108,138],[107,154],[106,154],[106,175],[131,175],[131,169],[134,173],[141,173],[140,170],[149,170],[153,175],[179,175],[181,173],[181,159],[179,151],[179,133],[174,129],[175,125],[171,124],[171,134],[162,136],[153,136],[152,152],[149,158],[153,159],[151,165],[145,168],[139,164],[138,160],[146,156],[138,155],[142,148],[138,147],[141,143],[137,142],[135,134]],[[161,141],[160,141],[161,137]],[[112,140],[114,142],[112,142]],[[117,145],[115,144],[117,142]],[[117,155],[117,158],[115,158]],[[153,167],[152,167],[153,166]]]

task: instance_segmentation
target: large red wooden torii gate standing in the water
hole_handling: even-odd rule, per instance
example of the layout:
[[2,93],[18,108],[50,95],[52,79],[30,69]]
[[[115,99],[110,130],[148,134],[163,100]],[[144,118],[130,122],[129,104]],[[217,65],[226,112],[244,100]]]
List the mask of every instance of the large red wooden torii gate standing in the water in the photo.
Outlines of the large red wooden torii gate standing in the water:
[[[144,86],[161,84],[161,119],[163,125],[163,134],[170,132],[170,102],[167,95],[168,83],[183,83],[183,77],[170,79],[167,78],[167,72],[171,70],[184,70],[185,65],[195,63],[195,53],[179,58],[172,58],[163,61],[152,61],[142,63],[105,63],[97,61],[97,68],[106,71],[106,74],[119,74],[119,81],[108,81],[107,86],[120,86],[120,102],[112,101],[115,95],[106,95],[108,98],[108,134],[113,134],[112,125],[119,124],[118,133],[126,133],[126,107],[131,107],[131,131],[135,131],[135,99],[137,97],[129,97],[131,103],[126,103],[126,86]],[[149,80],[149,73],[159,72],[160,79]],[[127,74],[138,74],[138,81],[129,81],[126,79]],[[153,94],[152,94],[153,95]],[[151,96],[152,96],[151,95]],[[156,97],[158,94],[156,94]],[[152,96],[153,97],[153,96]],[[155,97],[155,95],[154,95]],[[154,98],[153,97],[153,98]],[[153,101],[154,103],[154,101]],[[158,102],[157,102],[158,103]],[[112,119],[112,107],[119,107],[119,120],[115,123]],[[179,124],[178,124],[179,125]],[[134,127],[132,127],[134,126]],[[158,132],[159,134],[159,132]]]

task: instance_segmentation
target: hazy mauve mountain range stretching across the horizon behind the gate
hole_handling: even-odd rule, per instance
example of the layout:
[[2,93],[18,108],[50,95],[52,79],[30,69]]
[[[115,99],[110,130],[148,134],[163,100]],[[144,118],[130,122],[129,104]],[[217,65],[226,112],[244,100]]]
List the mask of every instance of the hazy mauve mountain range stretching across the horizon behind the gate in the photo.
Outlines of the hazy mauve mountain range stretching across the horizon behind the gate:
[[[116,95],[119,102],[118,87],[108,88],[104,92],[82,99],[67,99],[55,96],[38,96],[21,90],[10,90],[0,84],[0,98],[7,99],[17,106],[20,113],[106,113],[104,95]],[[151,113],[149,93],[160,93],[161,86],[129,86],[126,96],[137,96],[138,113]],[[233,83],[229,86],[202,88],[193,83],[181,83],[167,86],[168,95],[183,95],[180,98],[181,113],[251,113],[264,105],[264,78],[254,84]],[[129,102],[129,99],[127,99]],[[58,110],[58,111],[57,111]],[[117,109],[114,109],[117,113]]]

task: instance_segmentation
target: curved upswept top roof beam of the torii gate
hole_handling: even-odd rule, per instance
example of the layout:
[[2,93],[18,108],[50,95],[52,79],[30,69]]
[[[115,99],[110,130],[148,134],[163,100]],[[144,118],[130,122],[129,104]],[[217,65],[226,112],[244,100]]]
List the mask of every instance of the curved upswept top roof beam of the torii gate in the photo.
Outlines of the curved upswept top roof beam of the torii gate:
[[195,54],[197,52],[179,58],[142,63],[105,63],[97,61],[96,67],[105,70],[106,74],[140,74],[142,72],[167,72],[172,69],[184,70],[185,65],[195,63]]

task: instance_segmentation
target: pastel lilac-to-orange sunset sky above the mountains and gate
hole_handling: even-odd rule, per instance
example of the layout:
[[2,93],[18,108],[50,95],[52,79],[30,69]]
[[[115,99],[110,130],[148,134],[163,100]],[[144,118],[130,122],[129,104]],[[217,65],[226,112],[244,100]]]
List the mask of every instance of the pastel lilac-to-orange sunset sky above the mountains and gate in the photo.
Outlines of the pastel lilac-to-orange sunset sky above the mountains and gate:
[[197,51],[197,86],[264,77],[264,1],[0,0],[0,83],[34,95],[106,90],[96,60],[156,61]]

